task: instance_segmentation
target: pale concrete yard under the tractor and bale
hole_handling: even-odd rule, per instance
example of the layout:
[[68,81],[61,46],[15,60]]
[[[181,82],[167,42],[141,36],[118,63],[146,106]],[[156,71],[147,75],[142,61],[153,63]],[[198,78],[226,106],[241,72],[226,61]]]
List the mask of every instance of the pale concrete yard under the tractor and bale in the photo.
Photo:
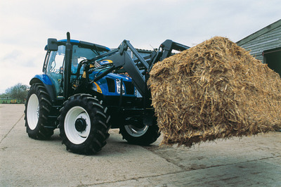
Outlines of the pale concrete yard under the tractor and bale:
[[117,129],[96,155],[25,132],[24,105],[0,105],[0,186],[281,186],[281,132],[192,148],[133,146]]

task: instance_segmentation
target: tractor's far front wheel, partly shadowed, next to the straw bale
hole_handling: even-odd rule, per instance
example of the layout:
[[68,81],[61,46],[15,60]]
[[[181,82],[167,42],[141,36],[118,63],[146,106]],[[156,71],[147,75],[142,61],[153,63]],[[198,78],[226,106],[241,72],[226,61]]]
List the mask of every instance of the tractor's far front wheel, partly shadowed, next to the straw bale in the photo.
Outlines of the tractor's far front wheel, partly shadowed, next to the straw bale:
[[152,126],[147,126],[142,122],[127,124],[120,127],[119,133],[122,134],[123,139],[126,139],[128,143],[140,146],[148,146],[160,136],[156,121]]

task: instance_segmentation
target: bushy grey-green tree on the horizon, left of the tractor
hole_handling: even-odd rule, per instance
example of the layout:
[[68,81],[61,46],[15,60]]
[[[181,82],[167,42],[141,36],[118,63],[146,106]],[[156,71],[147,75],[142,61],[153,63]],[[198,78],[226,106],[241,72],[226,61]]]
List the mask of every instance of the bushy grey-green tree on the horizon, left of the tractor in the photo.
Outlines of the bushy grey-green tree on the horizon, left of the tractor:
[[16,98],[19,100],[24,100],[27,97],[27,92],[30,89],[30,86],[18,83],[11,88],[6,89],[6,95],[10,98]]

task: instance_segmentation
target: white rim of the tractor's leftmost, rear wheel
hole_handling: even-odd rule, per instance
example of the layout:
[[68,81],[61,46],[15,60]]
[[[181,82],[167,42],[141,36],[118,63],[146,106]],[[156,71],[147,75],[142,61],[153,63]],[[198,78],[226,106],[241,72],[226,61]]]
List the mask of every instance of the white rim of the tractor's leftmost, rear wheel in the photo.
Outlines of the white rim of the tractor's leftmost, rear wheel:
[[37,95],[33,93],[27,103],[27,124],[31,130],[37,127],[39,119],[39,100]]

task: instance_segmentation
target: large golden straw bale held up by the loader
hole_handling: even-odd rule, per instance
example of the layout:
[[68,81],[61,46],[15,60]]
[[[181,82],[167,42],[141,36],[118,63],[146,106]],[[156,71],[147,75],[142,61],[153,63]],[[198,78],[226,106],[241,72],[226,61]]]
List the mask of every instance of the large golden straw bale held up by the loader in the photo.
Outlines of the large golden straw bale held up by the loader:
[[280,76],[224,37],[156,63],[148,85],[162,144],[192,146],[281,128]]

